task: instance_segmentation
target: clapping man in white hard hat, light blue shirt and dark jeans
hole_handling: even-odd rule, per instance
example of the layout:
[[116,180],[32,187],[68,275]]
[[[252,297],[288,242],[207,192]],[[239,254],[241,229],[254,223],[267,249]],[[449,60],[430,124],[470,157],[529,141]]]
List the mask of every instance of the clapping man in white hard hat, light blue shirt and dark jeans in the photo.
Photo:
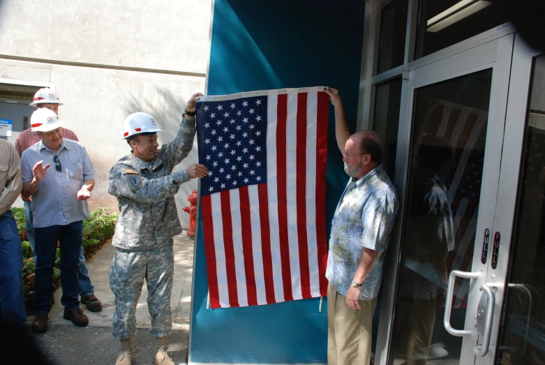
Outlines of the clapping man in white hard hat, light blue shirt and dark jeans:
[[[89,218],[87,199],[94,188],[93,165],[80,142],[63,138],[63,121],[52,110],[41,108],[31,116],[40,142],[22,154],[25,198],[32,196],[36,231],[36,271],[32,331],[47,331],[51,310],[53,265],[57,242],[61,247],[63,317],[74,325],[89,323],[80,309],[77,271],[82,246],[83,220]],[[48,169],[54,165],[54,168]]]

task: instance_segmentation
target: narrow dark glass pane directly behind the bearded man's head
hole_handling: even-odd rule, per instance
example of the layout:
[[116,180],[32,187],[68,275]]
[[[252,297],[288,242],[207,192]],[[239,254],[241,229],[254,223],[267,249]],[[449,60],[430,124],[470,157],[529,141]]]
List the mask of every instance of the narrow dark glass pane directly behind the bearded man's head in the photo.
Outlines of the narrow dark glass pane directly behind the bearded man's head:
[[391,181],[394,181],[394,170],[396,167],[400,107],[401,79],[378,85],[375,98],[373,131],[378,133],[382,146],[384,146],[382,166],[385,168]]

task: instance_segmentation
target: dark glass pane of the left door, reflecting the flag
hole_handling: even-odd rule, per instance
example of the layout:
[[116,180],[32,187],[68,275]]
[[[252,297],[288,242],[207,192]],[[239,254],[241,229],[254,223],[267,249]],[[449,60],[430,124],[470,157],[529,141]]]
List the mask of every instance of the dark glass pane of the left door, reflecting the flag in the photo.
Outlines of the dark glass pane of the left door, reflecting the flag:
[[[450,271],[471,271],[492,70],[415,91],[390,364],[458,364],[462,338],[443,327]],[[480,255],[480,253],[479,253]],[[469,279],[454,289],[462,329]]]

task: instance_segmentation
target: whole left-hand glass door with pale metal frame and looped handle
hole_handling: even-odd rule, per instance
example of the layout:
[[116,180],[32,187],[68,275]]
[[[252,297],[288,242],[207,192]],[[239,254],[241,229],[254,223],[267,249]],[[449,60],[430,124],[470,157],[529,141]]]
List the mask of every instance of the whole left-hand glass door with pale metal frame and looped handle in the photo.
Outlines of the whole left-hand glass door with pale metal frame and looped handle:
[[380,364],[474,364],[490,348],[477,310],[479,289],[481,306],[493,295],[482,258],[493,239],[513,43],[505,36],[405,79],[401,255]]

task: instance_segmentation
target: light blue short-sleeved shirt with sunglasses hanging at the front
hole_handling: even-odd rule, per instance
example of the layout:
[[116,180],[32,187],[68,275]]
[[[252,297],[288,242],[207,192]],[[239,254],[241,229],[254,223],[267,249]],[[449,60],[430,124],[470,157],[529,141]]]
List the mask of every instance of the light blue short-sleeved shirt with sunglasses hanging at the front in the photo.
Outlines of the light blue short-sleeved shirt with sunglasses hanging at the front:
[[[55,169],[54,156],[58,156],[62,171]],[[93,179],[93,164],[80,142],[63,139],[61,148],[54,154],[42,141],[26,149],[21,165],[23,183],[33,179],[32,168],[38,161],[51,167],[32,195],[32,215],[36,228],[50,225],[67,225],[89,218],[87,200],[77,200],[83,181]]]

